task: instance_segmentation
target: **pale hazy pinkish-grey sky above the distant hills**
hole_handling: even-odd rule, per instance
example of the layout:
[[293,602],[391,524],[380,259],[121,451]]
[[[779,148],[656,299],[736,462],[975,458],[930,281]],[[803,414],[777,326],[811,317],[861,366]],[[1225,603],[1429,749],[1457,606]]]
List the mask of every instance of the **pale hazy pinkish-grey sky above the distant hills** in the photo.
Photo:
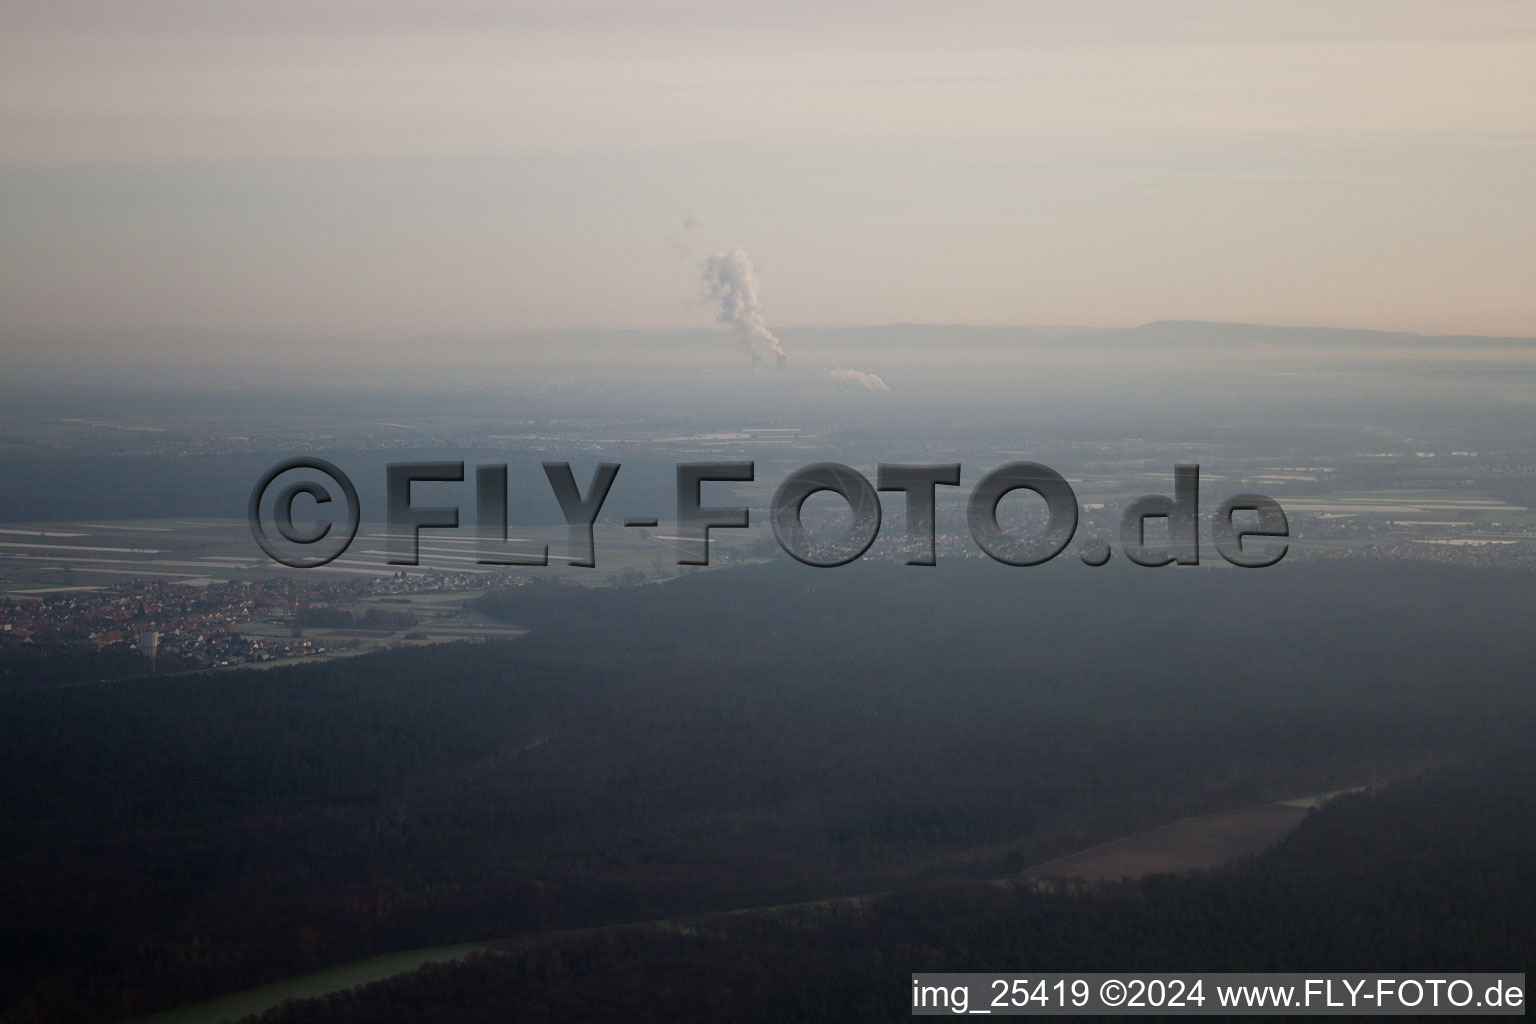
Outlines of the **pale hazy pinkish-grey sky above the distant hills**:
[[734,246],[770,324],[1536,335],[1536,3],[0,6],[12,350],[703,325]]

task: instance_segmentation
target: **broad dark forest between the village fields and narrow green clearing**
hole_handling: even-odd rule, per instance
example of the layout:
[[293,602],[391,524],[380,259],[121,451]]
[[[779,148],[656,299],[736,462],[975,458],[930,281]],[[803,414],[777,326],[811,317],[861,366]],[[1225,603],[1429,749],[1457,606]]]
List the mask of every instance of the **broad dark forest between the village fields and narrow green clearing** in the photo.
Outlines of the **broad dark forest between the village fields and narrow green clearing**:
[[5,692],[0,1015],[995,877],[1518,746],[1527,591],[776,562],[488,597],[518,642]]

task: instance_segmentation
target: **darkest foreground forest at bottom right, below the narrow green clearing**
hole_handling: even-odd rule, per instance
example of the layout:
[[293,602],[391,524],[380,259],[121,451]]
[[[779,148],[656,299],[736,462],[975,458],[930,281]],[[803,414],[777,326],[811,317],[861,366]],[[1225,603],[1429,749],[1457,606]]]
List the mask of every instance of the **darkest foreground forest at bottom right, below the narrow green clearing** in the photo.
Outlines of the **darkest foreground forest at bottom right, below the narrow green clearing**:
[[[1531,761],[1342,797],[1221,870],[1052,895],[965,883],[518,944],[263,1024],[906,1019],[911,972],[1522,970],[1536,953]],[[1207,1006],[1213,992],[1204,993]]]

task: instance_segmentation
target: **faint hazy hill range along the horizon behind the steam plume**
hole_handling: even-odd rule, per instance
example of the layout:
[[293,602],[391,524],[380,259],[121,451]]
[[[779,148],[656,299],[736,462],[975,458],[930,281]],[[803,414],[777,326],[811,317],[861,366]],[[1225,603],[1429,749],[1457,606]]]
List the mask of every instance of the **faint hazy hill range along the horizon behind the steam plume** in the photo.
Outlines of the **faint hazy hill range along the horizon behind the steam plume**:
[[[826,368],[846,362],[932,364],[957,355],[975,359],[1005,353],[1040,352],[1144,352],[1149,347],[1186,350],[1243,348],[1321,353],[1409,355],[1447,350],[1531,353],[1536,338],[1482,335],[1416,335],[1409,332],[1355,330],[1342,327],[1278,327],[1267,324],[1221,324],[1207,321],[1158,321],[1138,327],[1001,325],[1001,324],[879,324],[829,327],[794,324],[770,327],[790,353],[791,367]],[[401,382],[402,370],[415,370],[413,382],[441,384],[435,375],[473,367],[553,368],[591,367],[634,372],[641,368],[737,367],[746,355],[723,329],[657,330],[507,330],[482,335],[433,335],[410,338],[267,338],[230,332],[175,332],[151,338],[144,332],[121,335],[68,335],[32,339],[11,367],[20,378],[48,378],[66,372],[75,384],[164,385],[175,381],[214,382],[232,375],[244,385],[281,384],[315,372],[344,372],[350,384]],[[138,353],[155,353],[147,359]],[[84,370],[83,370],[84,367]],[[89,367],[94,367],[91,370]],[[84,373],[84,376],[81,376]]]

